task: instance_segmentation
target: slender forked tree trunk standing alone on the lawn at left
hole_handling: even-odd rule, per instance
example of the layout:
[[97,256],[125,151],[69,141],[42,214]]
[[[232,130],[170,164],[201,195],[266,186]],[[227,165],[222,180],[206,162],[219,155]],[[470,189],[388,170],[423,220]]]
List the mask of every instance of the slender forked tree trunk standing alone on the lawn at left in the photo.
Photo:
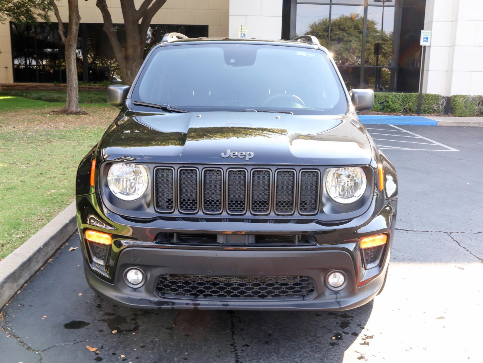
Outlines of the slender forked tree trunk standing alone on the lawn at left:
[[78,0],[68,0],[69,28],[67,29],[66,36],[57,4],[55,0],[49,1],[57,17],[60,38],[64,42],[65,70],[67,73],[67,102],[60,112],[65,114],[84,113],[79,108],[79,83],[77,80],[77,38],[79,36],[79,23],[81,21],[79,3]]

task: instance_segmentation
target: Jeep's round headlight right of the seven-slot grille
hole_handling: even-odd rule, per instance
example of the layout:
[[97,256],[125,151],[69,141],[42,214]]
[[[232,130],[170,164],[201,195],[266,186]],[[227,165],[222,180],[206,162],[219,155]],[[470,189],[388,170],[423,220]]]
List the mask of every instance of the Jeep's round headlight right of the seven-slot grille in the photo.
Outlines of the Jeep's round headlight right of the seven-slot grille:
[[327,193],[337,203],[348,204],[358,200],[366,190],[366,173],[358,166],[328,169]]

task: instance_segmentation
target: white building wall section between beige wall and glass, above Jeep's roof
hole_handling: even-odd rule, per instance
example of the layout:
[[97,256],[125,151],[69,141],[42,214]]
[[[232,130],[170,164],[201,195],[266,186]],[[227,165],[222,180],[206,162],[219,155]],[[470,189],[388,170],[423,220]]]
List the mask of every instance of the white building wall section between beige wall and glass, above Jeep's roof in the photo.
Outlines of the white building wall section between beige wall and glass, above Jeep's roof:
[[282,0],[230,0],[228,36],[238,38],[240,26],[248,28],[247,38],[282,37]]

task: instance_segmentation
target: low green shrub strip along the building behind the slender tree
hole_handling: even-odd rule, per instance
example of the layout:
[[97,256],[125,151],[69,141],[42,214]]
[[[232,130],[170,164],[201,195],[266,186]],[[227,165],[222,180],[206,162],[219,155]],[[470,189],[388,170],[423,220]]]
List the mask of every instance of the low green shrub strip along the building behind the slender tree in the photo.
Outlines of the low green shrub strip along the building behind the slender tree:
[[[66,91],[0,91],[2,96],[19,96],[45,102],[65,102]],[[106,91],[79,90],[80,103],[106,103]]]

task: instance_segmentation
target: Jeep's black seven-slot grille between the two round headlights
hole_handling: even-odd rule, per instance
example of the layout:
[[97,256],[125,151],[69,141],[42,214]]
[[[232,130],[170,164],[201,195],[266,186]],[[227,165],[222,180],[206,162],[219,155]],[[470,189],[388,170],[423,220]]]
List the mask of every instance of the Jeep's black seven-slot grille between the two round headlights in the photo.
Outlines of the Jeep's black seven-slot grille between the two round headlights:
[[318,169],[156,167],[155,206],[161,213],[314,215],[320,178]]

